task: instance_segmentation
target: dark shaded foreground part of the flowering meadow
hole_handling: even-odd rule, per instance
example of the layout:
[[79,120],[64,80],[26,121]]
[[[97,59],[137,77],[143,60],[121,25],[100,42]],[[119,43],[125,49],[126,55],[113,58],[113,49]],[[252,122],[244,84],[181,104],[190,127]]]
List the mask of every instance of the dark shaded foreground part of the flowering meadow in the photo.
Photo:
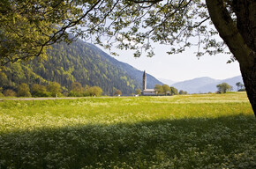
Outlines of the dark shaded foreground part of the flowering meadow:
[[254,116],[0,134],[0,168],[254,168]]

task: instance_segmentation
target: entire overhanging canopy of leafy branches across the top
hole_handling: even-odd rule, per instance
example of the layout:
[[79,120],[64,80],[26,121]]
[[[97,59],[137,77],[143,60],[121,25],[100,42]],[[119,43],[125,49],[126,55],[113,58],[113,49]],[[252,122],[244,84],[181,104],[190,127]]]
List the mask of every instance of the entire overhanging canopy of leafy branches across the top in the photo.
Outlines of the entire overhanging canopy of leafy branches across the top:
[[[114,37],[117,48],[132,49],[135,56],[143,50],[154,55],[152,42],[156,41],[171,45],[169,54],[201,43],[206,43],[207,53],[215,54],[223,50],[223,43],[211,38],[215,30],[207,30],[206,9],[198,0],[4,0],[0,4],[1,65],[31,56],[45,57],[49,45],[72,41],[66,30],[73,33],[73,39],[80,36],[105,48],[112,47]],[[177,48],[176,43],[182,45]],[[210,50],[212,47],[217,50]]]

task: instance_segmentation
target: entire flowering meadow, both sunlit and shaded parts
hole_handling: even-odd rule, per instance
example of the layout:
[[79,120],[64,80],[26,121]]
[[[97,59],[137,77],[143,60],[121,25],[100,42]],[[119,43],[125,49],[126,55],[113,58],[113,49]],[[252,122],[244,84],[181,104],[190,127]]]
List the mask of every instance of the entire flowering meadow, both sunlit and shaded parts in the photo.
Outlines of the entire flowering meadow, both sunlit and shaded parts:
[[256,168],[245,92],[3,100],[0,168]]

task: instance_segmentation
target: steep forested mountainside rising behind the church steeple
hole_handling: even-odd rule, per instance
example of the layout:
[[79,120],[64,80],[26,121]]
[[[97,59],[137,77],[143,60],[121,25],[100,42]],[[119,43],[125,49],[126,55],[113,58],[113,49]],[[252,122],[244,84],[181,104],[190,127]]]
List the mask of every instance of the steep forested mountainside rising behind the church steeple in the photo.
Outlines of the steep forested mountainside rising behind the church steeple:
[[[77,40],[70,45],[56,44],[48,51],[48,60],[35,58],[28,63],[9,63],[0,72],[0,87],[17,90],[21,83],[48,84],[56,81],[68,91],[72,82],[98,85],[104,94],[112,95],[118,89],[128,95],[142,86],[143,72],[129,64],[118,62],[94,45]],[[147,75],[148,86],[162,84]]]

